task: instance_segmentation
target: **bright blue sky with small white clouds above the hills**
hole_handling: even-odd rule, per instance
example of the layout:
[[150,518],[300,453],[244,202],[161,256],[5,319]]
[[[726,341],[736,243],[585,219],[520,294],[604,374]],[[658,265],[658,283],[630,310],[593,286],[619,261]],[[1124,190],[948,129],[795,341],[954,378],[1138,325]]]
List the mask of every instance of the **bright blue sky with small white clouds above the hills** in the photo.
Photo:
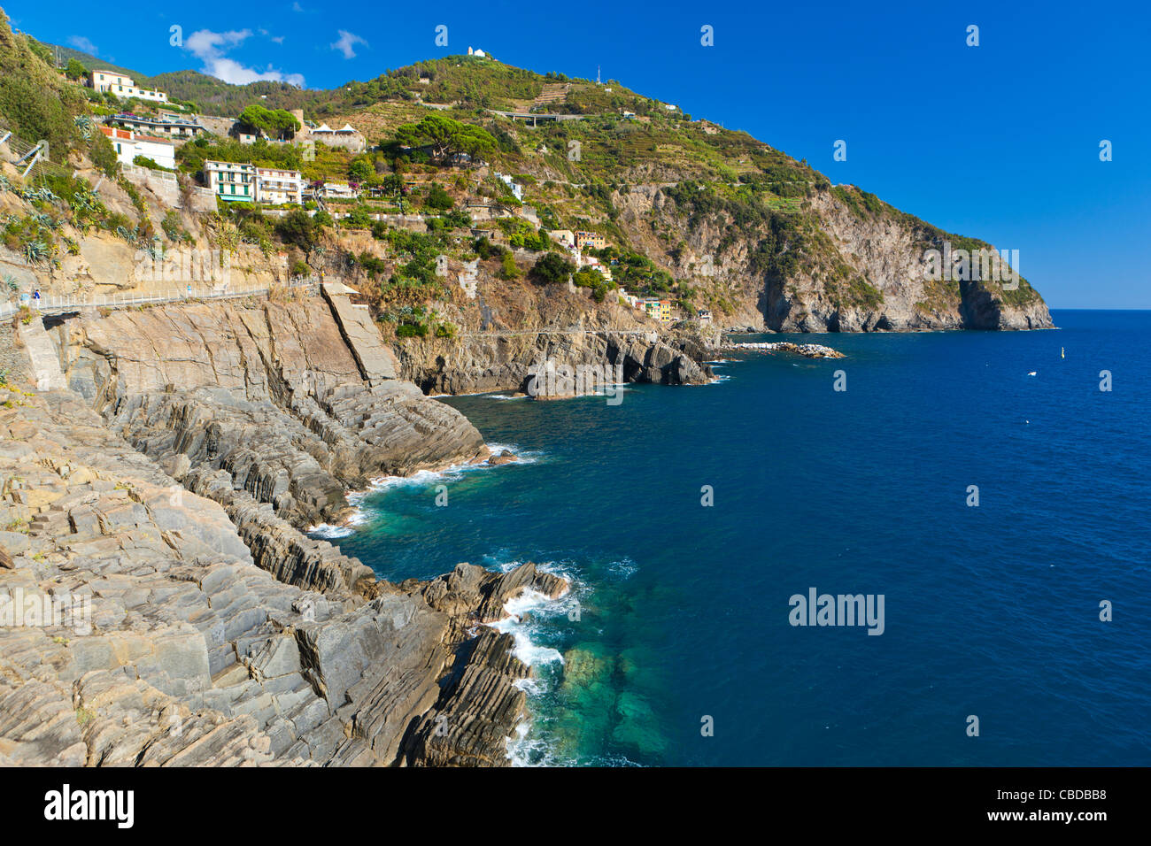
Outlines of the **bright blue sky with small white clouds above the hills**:
[[[832,182],[1019,250],[1021,272],[1052,307],[1151,308],[1151,12],[790,6],[122,0],[108,15],[20,0],[5,10],[41,40],[87,46],[144,74],[195,68],[333,87],[468,45],[541,73],[594,78],[599,64],[604,79],[745,129]],[[174,24],[183,47],[169,45]],[[447,48],[434,44],[439,24]],[[704,24],[711,47],[700,43]],[[966,44],[971,24],[977,47]],[[832,159],[838,139],[846,161]]]

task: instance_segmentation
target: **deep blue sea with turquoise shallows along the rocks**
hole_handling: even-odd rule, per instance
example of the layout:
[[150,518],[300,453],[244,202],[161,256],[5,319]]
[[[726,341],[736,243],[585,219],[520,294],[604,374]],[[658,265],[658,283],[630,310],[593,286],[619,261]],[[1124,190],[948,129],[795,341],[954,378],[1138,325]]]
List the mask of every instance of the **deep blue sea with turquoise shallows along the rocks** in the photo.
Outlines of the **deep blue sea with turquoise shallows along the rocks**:
[[[574,581],[506,625],[520,763],[1148,765],[1151,312],[1053,317],[792,336],[848,358],[730,355],[615,406],[447,399],[527,460],[387,485],[336,542],[394,580]],[[813,587],[882,594],[883,634],[791,625]]]

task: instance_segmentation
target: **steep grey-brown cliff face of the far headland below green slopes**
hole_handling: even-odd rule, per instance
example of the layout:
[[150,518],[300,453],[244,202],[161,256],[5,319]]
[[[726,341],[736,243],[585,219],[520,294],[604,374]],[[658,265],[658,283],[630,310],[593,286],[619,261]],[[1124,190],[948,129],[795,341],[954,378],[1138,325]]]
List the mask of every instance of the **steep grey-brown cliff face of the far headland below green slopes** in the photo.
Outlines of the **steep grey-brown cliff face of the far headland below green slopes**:
[[[854,186],[815,183],[787,212],[724,200],[704,185],[638,184],[612,196],[619,226],[677,276],[694,276],[724,326],[770,331],[1041,329],[1026,279],[933,280],[927,256],[991,244],[948,235]],[[679,249],[669,253],[668,243]],[[1015,268],[1017,270],[1017,268]],[[940,274],[942,275],[942,274]],[[1015,287],[1017,285],[1017,287]]]

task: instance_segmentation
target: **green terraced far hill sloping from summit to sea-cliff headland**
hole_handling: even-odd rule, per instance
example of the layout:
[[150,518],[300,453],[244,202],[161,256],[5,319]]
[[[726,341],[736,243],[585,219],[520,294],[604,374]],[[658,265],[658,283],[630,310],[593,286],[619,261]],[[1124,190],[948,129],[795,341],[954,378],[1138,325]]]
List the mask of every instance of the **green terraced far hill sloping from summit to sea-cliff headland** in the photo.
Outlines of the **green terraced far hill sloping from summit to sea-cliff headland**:
[[[991,244],[833,186],[746,132],[692,121],[616,82],[452,56],[352,84],[327,106],[373,97],[386,99],[336,121],[387,143],[427,114],[414,98],[450,106],[439,114],[497,140],[491,169],[514,175],[546,227],[602,233],[615,246],[605,257],[645,257],[653,267],[628,290],[670,294],[688,312],[803,331],[1051,325],[1024,279],[1013,290],[927,277],[924,251]],[[493,109],[579,119],[533,127]]]

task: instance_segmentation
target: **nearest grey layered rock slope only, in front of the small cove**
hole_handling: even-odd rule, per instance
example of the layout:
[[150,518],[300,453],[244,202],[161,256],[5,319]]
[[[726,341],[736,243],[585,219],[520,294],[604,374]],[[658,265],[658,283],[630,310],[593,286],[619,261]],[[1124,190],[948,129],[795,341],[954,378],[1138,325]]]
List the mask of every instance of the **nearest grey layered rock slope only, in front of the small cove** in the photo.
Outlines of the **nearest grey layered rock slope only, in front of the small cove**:
[[0,627],[0,762],[506,763],[528,670],[467,631],[562,579],[376,580],[218,471],[176,485],[73,392],[0,391],[0,596],[90,609]]

